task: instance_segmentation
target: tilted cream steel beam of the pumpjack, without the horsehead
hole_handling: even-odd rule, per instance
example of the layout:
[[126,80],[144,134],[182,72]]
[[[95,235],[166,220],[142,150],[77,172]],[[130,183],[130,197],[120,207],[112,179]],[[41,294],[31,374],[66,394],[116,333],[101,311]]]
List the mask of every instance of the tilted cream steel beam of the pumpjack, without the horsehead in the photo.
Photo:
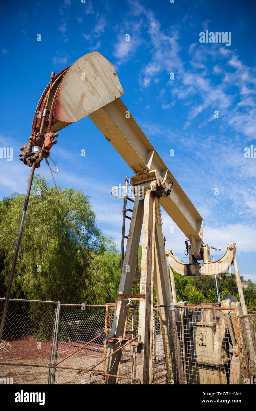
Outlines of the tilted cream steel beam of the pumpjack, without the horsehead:
[[89,117],[134,173],[138,175],[156,170],[164,179],[173,180],[170,195],[161,197],[160,204],[191,243],[193,242],[195,255],[199,254],[203,236],[201,215],[132,115],[126,117],[127,112],[127,107],[119,98],[89,114]]

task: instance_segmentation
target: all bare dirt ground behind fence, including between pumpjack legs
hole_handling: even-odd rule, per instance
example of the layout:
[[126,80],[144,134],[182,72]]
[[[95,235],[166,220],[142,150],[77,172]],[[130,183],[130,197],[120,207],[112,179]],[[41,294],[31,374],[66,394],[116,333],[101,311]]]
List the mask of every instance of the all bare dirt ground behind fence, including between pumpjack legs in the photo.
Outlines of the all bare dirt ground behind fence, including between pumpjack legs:
[[[157,353],[163,352],[161,336],[156,338]],[[59,342],[57,362],[76,351],[83,343]],[[29,336],[19,340],[5,341],[0,347],[0,378],[12,378],[13,384],[48,384],[49,368],[32,367],[30,365],[48,366],[51,355],[51,342],[41,342],[38,344],[35,337]],[[132,357],[132,347],[124,349],[122,360],[129,360]],[[79,350],[71,357],[65,359],[59,366],[88,368],[95,365],[103,358],[103,345],[90,344]],[[165,383],[166,367],[163,364],[163,355],[154,357],[153,383]],[[10,365],[1,365],[8,363]],[[21,365],[12,365],[12,364]],[[101,363],[96,367],[103,369]],[[55,384],[101,384],[102,376],[83,373],[77,374],[74,369],[56,369]],[[131,376],[131,363],[123,363],[120,367],[120,375]],[[131,383],[129,379],[120,379],[118,383]]]

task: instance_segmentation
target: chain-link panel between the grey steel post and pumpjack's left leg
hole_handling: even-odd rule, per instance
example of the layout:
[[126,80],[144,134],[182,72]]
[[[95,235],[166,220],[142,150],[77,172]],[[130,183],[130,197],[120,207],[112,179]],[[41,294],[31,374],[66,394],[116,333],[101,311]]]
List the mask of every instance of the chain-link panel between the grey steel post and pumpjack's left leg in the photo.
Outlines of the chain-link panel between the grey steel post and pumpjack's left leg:
[[[95,373],[103,364],[94,365],[103,359],[105,314],[106,306],[61,305],[56,363],[68,368],[56,369],[55,384],[101,383],[102,376]],[[92,373],[78,374],[79,368],[90,367]]]

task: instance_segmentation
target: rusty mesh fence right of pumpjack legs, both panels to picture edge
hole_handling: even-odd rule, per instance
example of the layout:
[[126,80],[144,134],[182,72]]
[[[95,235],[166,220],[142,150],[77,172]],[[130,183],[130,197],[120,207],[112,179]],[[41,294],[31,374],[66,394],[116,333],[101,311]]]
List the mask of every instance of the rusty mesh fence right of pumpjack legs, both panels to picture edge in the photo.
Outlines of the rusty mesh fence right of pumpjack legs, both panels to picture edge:
[[255,376],[255,314],[178,304],[158,306],[155,319],[154,383],[233,385]]

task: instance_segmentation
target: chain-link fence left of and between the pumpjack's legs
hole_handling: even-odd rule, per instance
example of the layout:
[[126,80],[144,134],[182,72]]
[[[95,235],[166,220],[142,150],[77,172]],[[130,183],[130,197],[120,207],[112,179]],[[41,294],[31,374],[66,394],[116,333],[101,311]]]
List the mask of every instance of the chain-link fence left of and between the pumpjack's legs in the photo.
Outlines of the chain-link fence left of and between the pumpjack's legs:
[[[0,312],[3,305],[4,298],[0,299]],[[101,384],[114,311],[115,304],[10,299],[0,346],[2,383],[9,378],[13,384]],[[126,330],[128,338],[135,337],[138,330],[134,305],[129,309]],[[136,358],[135,346],[122,349],[118,374],[134,377]],[[90,367],[92,372],[85,372]],[[118,383],[134,380],[119,378]]]

